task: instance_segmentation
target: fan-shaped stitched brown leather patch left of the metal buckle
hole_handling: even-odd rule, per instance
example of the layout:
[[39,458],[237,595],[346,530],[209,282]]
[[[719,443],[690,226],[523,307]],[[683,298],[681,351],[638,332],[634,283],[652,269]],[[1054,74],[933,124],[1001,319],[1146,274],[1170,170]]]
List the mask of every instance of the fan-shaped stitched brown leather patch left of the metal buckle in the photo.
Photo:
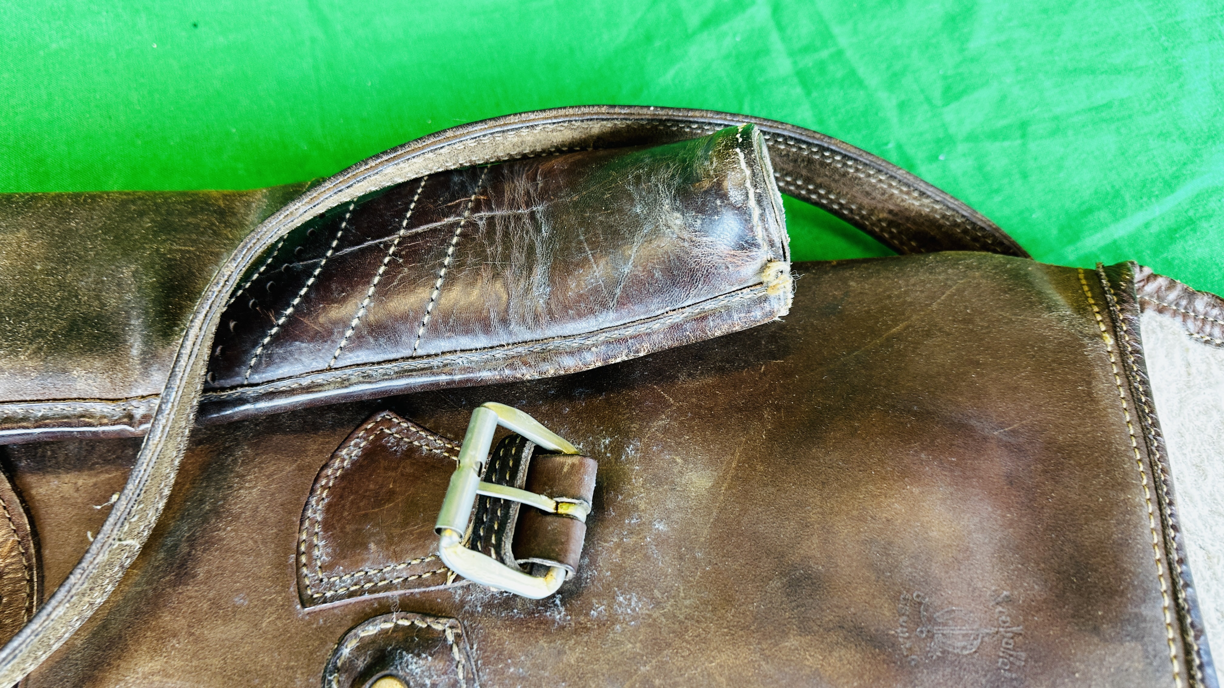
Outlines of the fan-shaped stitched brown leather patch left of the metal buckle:
[[302,508],[304,607],[453,583],[437,558],[432,529],[417,522],[432,525],[458,451],[455,442],[390,411],[375,414],[340,444]]

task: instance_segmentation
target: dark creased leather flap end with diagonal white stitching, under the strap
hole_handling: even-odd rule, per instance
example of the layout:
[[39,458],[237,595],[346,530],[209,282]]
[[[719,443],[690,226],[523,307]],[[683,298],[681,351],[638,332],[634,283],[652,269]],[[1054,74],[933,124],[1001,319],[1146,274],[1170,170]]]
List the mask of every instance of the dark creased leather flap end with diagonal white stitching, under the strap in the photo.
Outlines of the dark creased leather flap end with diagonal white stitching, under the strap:
[[426,175],[290,233],[214,340],[203,420],[574,372],[789,307],[750,125]]

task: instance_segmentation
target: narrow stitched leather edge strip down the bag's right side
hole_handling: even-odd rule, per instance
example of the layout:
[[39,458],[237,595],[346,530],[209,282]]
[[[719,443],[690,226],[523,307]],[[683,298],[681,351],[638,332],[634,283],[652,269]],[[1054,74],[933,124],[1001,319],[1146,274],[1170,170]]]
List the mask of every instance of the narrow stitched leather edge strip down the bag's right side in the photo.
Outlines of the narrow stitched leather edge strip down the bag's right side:
[[[1187,667],[1187,682],[1193,688],[1219,688],[1202,622],[1202,610],[1195,594],[1193,578],[1186,561],[1185,542],[1177,524],[1177,508],[1170,481],[1168,451],[1148,380],[1140,326],[1140,302],[1135,262],[1114,266],[1097,264],[1097,280],[1104,291],[1111,334],[1118,346],[1116,366],[1124,371],[1135,416],[1138,420],[1147,463],[1152,469],[1160,519],[1160,552],[1170,572],[1181,655]],[[1113,351],[1110,351],[1113,356]],[[1113,361],[1111,361],[1113,362]],[[1127,419],[1127,425],[1131,420]],[[1133,433],[1132,433],[1133,439]],[[1144,490],[1147,486],[1144,485]],[[1153,546],[1155,542],[1153,542]],[[1174,572],[1176,573],[1174,575]],[[1163,585],[1162,585],[1163,588]],[[1162,589],[1162,594],[1164,590]]]

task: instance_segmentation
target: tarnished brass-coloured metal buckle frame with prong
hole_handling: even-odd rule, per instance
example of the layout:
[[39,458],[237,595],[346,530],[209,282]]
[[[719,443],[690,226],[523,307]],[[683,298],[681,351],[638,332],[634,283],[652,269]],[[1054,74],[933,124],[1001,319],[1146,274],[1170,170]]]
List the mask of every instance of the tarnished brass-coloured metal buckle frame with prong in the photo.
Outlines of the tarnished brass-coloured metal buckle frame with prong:
[[433,526],[438,534],[438,555],[442,557],[442,562],[450,567],[450,570],[468,580],[540,600],[561,588],[565,580],[565,569],[554,566],[545,575],[529,575],[488,555],[465,547],[463,544],[464,534],[468,531],[476,495],[521,502],[547,513],[567,514],[583,522],[586,520],[589,507],[581,503],[557,502],[526,490],[482,481],[480,469],[488,458],[497,426],[518,432],[550,452],[578,453],[577,447],[540,425],[528,414],[494,402],[481,404],[471,414],[468,435],[464,436],[463,447],[459,449],[459,466],[450,476],[450,486],[447,487],[447,496],[442,499],[442,510],[438,512],[438,520]]

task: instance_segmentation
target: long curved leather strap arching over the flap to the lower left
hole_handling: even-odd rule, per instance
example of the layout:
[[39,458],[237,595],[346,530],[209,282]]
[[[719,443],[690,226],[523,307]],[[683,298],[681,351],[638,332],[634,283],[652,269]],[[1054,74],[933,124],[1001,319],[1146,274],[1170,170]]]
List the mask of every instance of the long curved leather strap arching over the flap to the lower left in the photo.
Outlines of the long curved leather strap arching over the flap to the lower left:
[[136,559],[166,503],[186,451],[213,335],[229,295],[279,237],[340,203],[437,171],[570,147],[661,143],[743,122],[755,122],[767,135],[776,171],[789,185],[780,185],[783,191],[842,217],[898,252],[1026,255],[989,220],[913,175],[819,133],[759,118],[641,107],[559,108],[463,125],[375,155],[282,208],[220,266],[184,332],[127,485],[81,562],[34,618],[0,649],[0,684],[16,683],[50,656],[98,610]]

